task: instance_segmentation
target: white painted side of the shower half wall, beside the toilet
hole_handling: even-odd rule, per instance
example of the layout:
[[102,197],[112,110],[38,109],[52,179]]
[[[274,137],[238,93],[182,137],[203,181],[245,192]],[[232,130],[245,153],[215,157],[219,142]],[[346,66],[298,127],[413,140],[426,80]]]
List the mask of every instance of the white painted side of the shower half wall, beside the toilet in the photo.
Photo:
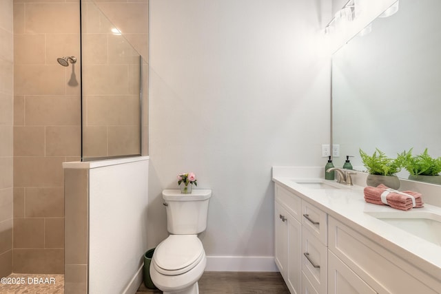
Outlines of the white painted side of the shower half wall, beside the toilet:
[[147,251],[148,157],[89,170],[89,292],[135,293]]

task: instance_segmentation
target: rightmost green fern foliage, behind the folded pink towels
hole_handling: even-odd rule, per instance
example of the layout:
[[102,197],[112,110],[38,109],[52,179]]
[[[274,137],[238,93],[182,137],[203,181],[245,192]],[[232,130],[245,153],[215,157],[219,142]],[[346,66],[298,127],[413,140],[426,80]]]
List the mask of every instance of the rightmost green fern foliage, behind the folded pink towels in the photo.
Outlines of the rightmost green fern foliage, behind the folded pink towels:
[[432,182],[441,184],[441,157],[433,158],[429,155],[427,148],[422,154],[412,156],[412,148],[404,151],[402,162],[404,169],[409,171],[409,180],[418,180],[422,182]]

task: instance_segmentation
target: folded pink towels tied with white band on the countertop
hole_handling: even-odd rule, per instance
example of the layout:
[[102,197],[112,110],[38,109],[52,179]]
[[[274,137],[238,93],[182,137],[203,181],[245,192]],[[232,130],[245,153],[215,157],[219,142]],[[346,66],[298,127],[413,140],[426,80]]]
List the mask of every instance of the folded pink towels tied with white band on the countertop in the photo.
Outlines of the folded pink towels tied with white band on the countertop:
[[397,191],[385,185],[365,187],[365,201],[378,205],[389,205],[395,209],[407,211],[412,207],[423,207],[421,193],[414,191]]

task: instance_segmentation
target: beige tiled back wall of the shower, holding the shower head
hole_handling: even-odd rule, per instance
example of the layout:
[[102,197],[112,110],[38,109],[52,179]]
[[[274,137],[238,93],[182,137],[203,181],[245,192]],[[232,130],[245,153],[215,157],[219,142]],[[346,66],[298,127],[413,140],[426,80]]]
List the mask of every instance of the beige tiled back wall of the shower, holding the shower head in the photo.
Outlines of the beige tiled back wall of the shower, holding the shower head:
[[[14,1],[14,273],[63,273],[61,162],[79,160],[79,0]],[[76,56],[63,67],[61,56]]]

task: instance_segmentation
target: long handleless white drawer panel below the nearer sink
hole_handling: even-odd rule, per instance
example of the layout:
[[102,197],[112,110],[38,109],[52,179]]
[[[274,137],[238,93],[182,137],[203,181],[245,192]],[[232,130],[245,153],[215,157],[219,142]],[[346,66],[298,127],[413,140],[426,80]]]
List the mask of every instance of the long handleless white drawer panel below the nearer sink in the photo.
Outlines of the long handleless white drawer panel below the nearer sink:
[[378,293],[440,293],[441,282],[364,235],[329,218],[329,250]]

